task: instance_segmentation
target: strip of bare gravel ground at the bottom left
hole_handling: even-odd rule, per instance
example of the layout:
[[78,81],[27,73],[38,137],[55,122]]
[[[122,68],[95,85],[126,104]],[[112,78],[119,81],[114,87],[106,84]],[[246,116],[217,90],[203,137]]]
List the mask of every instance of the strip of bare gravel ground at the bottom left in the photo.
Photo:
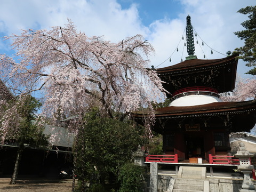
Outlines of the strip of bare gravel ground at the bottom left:
[[6,182],[0,182],[0,192],[70,192],[72,183],[68,182],[38,182],[22,183],[17,182],[15,185],[9,185]]

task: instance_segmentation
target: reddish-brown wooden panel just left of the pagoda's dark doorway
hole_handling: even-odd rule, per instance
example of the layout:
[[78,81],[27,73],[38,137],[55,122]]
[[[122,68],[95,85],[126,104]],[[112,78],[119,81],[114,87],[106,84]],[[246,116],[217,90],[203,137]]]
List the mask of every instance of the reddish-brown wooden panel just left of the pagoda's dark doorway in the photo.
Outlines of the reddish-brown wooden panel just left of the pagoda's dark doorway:
[[174,154],[178,154],[178,158],[185,159],[186,143],[184,140],[184,134],[182,132],[176,132],[174,134]]

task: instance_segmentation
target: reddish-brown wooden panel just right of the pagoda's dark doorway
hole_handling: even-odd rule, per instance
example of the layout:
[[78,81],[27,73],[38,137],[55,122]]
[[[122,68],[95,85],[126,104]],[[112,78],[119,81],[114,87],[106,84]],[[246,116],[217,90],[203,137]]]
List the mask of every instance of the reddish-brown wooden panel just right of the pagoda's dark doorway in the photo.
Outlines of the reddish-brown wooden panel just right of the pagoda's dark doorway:
[[212,131],[204,132],[204,148],[206,159],[209,159],[209,154],[215,155],[214,135]]

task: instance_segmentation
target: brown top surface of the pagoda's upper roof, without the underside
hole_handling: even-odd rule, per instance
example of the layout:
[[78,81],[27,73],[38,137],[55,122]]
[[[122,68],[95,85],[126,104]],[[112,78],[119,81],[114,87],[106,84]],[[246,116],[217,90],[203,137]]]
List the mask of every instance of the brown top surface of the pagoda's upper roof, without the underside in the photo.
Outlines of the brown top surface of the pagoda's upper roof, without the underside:
[[221,58],[221,59],[190,59],[180,62],[176,65],[172,65],[169,67],[158,68],[156,72],[161,74],[177,74],[182,72],[191,72],[195,70],[201,69],[211,69],[220,65],[225,65],[225,63],[229,63],[230,61],[236,60],[238,55],[234,54],[229,57]]

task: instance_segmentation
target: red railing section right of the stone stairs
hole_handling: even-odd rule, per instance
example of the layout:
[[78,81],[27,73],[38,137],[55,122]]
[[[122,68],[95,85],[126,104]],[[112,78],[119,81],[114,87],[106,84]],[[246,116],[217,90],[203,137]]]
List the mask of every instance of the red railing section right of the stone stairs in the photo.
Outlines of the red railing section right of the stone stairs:
[[209,154],[210,164],[230,164],[239,165],[239,159],[234,156],[218,156]]

